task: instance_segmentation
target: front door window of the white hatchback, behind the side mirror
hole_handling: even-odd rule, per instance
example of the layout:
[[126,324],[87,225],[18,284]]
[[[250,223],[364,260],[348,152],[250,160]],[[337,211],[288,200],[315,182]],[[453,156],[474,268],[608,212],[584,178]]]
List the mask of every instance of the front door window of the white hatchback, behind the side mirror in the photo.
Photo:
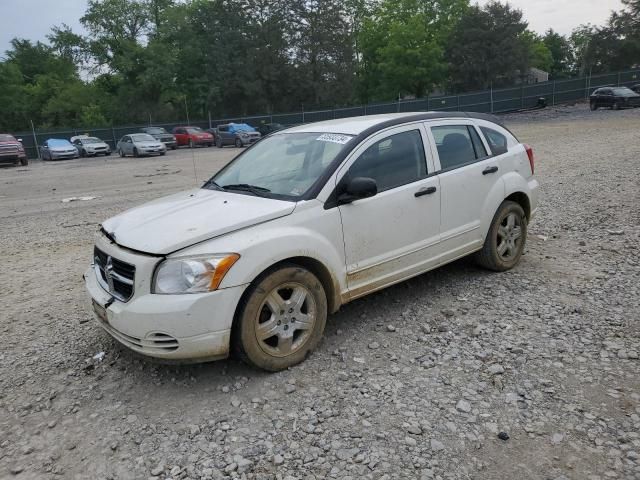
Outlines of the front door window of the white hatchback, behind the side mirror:
[[346,179],[373,178],[378,192],[413,183],[427,175],[422,135],[419,130],[397,133],[380,140],[351,165]]

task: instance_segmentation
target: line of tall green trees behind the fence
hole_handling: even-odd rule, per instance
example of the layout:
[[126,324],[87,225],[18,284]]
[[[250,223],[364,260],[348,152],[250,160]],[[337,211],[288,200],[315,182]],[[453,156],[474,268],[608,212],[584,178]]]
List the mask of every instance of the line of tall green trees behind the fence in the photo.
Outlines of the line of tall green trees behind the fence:
[[640,0],[569,36],[470,0],[90,0],[85,32],[15,38],[0,131],[204,119],[457,93],[640,64]]

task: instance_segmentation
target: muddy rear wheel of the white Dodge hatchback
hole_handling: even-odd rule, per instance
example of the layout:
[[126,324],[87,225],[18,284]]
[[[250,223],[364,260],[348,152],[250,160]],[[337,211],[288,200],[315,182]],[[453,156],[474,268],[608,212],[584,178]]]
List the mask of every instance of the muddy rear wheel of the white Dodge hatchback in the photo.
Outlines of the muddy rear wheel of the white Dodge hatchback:
[[493,216],[476,261],[495,272],[511,270],[520,261],[527,242],[527,217],[516,202],[504,201]]

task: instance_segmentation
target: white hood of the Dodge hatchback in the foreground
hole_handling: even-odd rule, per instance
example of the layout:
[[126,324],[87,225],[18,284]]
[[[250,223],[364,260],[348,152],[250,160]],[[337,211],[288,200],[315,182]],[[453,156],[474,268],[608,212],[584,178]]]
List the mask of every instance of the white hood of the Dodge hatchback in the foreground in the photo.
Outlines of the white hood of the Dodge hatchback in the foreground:
[[200,188],[132,208],[110,218],[102,227],[120,246],[165,255],[289,215],[295,205],[282,200]]

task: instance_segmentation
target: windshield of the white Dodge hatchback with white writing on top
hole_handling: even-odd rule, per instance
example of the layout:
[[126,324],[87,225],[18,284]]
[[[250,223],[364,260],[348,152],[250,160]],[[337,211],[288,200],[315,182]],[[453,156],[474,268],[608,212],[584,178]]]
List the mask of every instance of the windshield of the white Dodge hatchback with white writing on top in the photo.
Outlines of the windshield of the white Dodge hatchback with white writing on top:
[[[264,196],[302,197],[353,138],[333,133],[285,133],[266,137],[216,174],[206,188],[258,187]],[[266,189],[266,190],[265,190]],[[251,192],[256,194],[256,189]]]

